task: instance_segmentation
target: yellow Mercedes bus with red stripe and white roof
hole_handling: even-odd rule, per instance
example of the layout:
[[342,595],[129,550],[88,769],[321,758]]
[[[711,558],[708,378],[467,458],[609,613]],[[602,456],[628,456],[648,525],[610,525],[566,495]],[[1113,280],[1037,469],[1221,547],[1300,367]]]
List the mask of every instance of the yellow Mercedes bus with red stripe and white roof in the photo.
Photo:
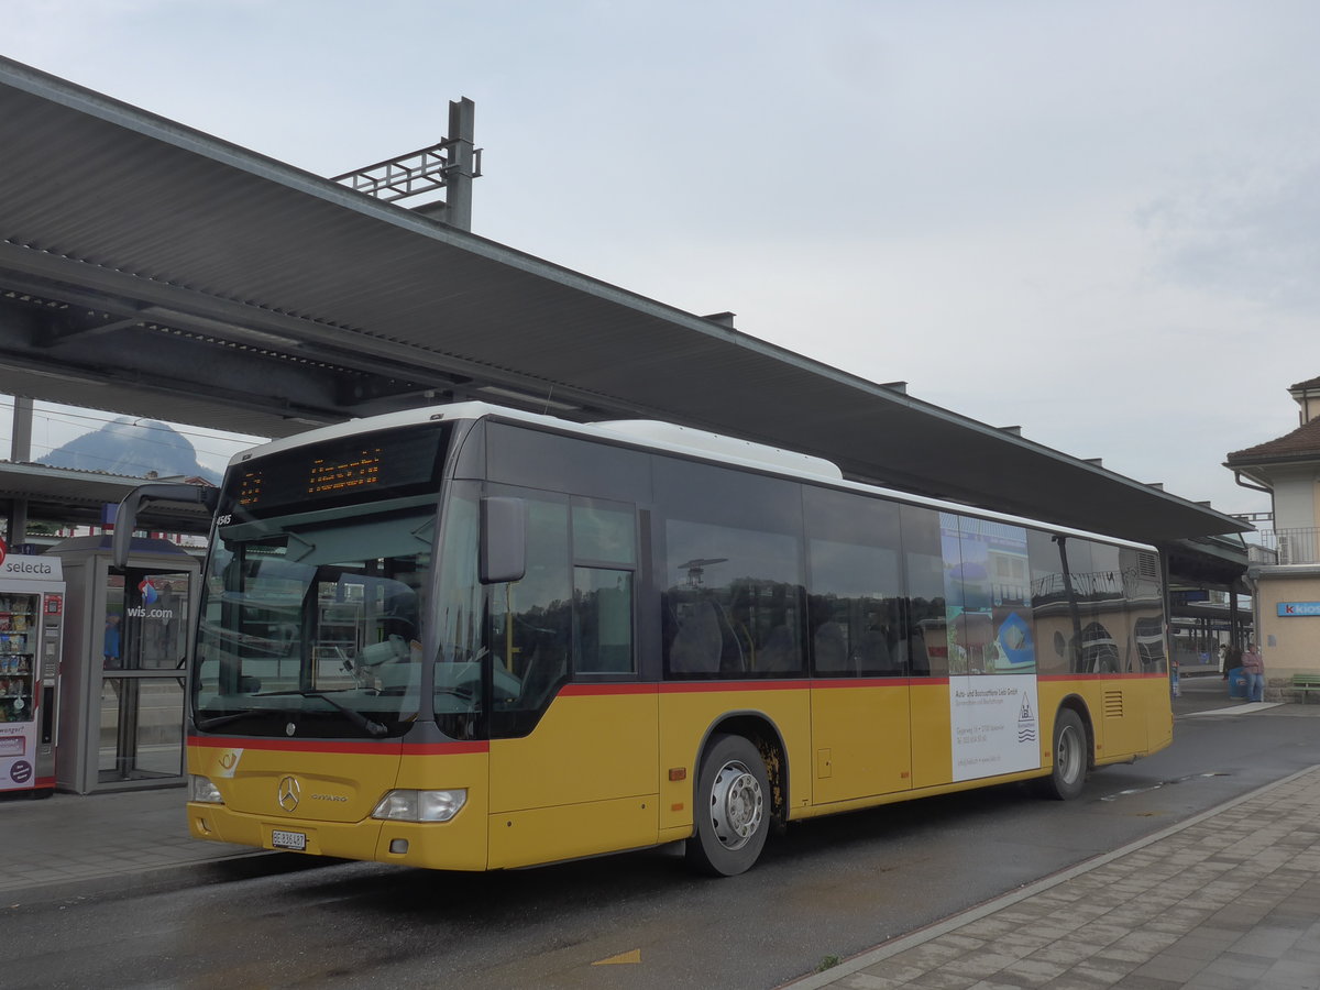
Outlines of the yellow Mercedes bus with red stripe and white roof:
[[213,508],[202,840],[442,870],[684,841],[733,875],[792,821],[1069,799],[1172,738],[1155,549],[813,457],[465,403],[239,454]]

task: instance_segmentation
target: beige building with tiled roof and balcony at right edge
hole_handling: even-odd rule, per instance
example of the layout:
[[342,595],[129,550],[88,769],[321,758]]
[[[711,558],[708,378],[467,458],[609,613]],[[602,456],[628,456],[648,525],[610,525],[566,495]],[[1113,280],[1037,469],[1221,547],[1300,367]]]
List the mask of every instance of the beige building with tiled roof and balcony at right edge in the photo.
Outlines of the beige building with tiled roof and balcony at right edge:
[[1274,529],[1259,533],[1255,630],[1267,696],[1286,697],[1295,673],[1320,673],[1320,378],[1288,388],[1299,425],[1234,450],[1224,466],[1238,483],[1270,494]]

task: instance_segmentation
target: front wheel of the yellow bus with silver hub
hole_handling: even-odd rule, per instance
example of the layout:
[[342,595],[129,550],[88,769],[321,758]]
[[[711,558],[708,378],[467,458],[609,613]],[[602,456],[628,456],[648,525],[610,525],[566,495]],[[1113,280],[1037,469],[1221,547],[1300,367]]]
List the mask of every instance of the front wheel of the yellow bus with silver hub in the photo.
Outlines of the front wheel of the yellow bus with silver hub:
[[756,747],[741,735],[717,735],[701,758],[697,776],[696,834],[688,862],[714,876],[751,869],[770,829],[770,779]]

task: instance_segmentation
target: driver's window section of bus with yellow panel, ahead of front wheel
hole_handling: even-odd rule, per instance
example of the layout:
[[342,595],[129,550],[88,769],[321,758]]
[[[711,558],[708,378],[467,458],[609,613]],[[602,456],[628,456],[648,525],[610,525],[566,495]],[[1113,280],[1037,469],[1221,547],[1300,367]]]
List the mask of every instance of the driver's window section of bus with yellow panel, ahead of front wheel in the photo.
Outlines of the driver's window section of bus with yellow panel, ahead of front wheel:
[[491,585],[490,867],[659,834],[655,685],[638,682],[636,513],[519,492],[527,570]]

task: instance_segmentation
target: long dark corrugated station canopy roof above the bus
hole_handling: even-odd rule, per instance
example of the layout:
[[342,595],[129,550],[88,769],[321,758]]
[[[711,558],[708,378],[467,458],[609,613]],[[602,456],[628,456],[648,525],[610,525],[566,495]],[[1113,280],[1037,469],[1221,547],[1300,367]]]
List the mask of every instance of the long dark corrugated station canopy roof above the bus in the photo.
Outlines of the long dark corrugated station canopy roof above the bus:
[[0,148],[7,393],[263,437],[483,399],[1134,540],[1250,528],[4,58]]

